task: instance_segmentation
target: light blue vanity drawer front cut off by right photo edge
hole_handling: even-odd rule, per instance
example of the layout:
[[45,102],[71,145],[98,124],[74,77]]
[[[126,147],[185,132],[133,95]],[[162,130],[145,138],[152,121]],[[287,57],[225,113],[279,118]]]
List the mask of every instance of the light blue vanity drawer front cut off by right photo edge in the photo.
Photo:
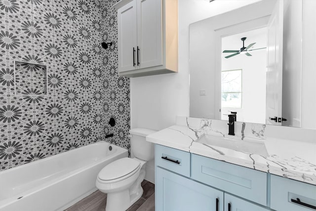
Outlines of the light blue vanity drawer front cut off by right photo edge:
[[277,211],[315,211],[316,185],[271,175],[270,201]]

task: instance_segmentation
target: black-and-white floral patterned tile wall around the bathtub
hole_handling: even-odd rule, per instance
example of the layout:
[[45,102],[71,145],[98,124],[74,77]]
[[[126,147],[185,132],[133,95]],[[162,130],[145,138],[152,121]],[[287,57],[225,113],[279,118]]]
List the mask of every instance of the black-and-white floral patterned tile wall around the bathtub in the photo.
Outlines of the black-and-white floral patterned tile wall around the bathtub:
[[[0,0],[0,170],[100,140],[130,148],[116,2]],[[47,95],[36,88],[14,95],[14,61],[47,65]],[[114,138],[105,139],[109,133]]]

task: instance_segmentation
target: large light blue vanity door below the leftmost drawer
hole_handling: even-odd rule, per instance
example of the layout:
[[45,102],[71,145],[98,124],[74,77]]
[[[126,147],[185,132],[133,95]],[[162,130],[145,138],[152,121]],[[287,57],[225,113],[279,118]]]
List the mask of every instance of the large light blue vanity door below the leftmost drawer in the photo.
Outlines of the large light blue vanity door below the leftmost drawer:
[[222,191],[168,170],[156,168],[155,187],[157,211],[223,211]]

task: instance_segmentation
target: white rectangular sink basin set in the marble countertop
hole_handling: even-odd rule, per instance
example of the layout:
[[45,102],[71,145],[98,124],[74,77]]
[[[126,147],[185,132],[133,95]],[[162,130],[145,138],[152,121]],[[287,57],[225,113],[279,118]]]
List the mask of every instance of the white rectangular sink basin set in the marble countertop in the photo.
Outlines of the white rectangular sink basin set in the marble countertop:
[[207,144],[207,145],[223,147],[227,149],[232,149],[238,152],[257,154],[264,157],[269,156],[265,143],[263,141],[259,141],[255,139],[237,140],[237,139],[226,138],[222,136],[203,134],[197,139],[196,142]]

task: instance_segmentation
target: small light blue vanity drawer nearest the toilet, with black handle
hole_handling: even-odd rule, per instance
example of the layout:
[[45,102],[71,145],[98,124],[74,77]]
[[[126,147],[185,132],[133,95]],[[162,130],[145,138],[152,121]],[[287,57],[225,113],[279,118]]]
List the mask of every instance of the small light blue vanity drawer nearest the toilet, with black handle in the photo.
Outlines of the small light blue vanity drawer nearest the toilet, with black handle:
[[155,163],[162,167],[190,177],[190,153],[155,144]]

